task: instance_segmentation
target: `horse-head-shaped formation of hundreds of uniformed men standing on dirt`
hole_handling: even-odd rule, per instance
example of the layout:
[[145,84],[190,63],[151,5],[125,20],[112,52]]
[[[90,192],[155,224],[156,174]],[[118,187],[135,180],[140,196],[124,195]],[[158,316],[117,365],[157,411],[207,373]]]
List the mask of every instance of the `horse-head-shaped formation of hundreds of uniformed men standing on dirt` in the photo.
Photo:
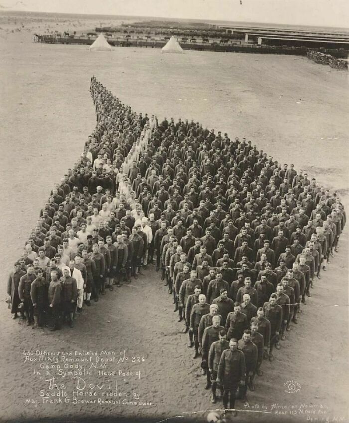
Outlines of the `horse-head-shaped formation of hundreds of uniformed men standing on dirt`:
[[201,356],[210,400],[255,390],[346,223],[336,193],[251,141],[136,114],[91,79],[97,125],[51,191],[7,285],[51,330],[154,264]]

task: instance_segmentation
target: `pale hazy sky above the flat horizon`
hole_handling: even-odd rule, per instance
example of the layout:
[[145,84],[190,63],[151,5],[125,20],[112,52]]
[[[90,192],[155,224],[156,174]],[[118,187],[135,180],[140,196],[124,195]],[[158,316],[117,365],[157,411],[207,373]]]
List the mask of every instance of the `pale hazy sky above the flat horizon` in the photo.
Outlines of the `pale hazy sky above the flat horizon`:
[[12,10],[348,27],[349,0],[0,0]]

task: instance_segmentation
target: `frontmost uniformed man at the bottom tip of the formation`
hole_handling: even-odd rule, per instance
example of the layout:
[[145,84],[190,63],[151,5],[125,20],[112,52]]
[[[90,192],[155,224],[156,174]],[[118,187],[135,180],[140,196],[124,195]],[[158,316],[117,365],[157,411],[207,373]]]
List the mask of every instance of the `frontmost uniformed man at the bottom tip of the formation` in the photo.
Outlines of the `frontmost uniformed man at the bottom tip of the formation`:
[[[229,350],[224,350],[220,357],[216,383],[223,386],[223,406],[230,409],[235,407],[235,397],[238,385],[245,386],[246,365],[245,356],[242,351],[237,349],[237,339],[232,338],[229,341]],[[230,397],[230,398],[229,398]],[[237,415],[234,410],[234,416]]]

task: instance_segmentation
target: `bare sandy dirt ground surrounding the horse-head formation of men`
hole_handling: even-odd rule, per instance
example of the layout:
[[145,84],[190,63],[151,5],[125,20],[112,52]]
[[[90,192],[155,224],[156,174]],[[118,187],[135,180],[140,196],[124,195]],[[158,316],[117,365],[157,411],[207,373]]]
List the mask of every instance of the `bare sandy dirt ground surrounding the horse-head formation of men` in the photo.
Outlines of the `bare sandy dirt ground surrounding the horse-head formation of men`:
[[[199,361],[192,360],[182,323],[153,269],[85,307],[74,329],[54,333],[10,319],[4,302],[8,273],[51,187],[73,165],[94,128],[93,74],[137,112],[160,120],[193,118],[231,137],[245,136],[280,162],[292,162],[336,189],[346,207],[347,74],[301,57],[163,55],[157,49],[128,48],[91,53],[83,46],[35,44],[30,31],[0,34],[0,420],[206,421],[207,410],[221,403],[209,403]],[[347,228],[339,246],[275,361],[263,363],[264,375],[257,377],[248,404],[237,403],[244,411],[235,421],[349,421]],[[93,373],[85,381],[114,384],[117,379],[119,392],[132,397],[135,391],[148,404],[35,404],[40,390],[48,390],[49,377],[34,375],[39,363],[25,362],[23,352],[82,350],[117,355],[125,350],[129,361],[109,363],[105,370],[141,375]],[[133,356],[140,362],[132,363]],[[77,379],[56,382],[62,381],[70,389]],[[288,389],[290,383],[297,389]],[[25,404],[26,399],[34,401]]]

